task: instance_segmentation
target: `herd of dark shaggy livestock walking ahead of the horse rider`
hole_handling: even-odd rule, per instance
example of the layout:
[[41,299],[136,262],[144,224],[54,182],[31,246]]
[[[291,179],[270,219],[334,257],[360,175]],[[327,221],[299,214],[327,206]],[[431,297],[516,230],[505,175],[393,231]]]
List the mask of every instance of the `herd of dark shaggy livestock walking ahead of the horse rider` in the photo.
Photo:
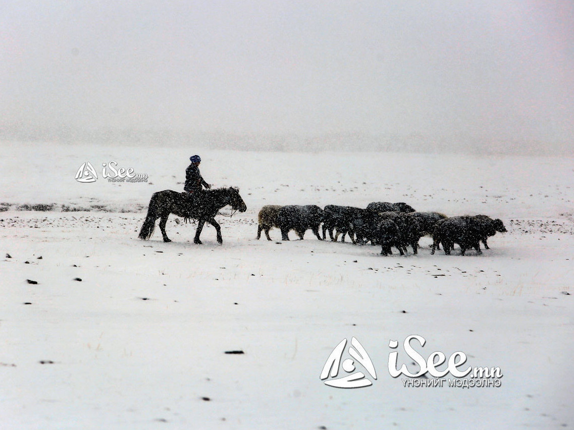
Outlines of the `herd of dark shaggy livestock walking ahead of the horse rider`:
[[[259,227],[257,239],[265,231],[267,239],[269,230],[280,228],[281,239],[289,240],[289,231],[296,231],[303,239],[305,231],[311,229],[320,241],[326,239],[327,232],[332,241],[341,241],[345,236],[352,243],[367,243],[381,246],[381,254],[392,254],[395,247],[401,255],[407,252],[406,247],[412,247],[417,254],[418,241],[429,235],[433,238],[431,254],[440,249],[442,243],[445,254],[449,255],[455,243],[460,246],[460,254],[474,248],[480,254],[480,242],[488,249],[487,239],[497,231],[506,230],[502,220],[492,219],[486,215],[447,216],[439,212],[417,212],[406,203],[373,202],[362,209],[352,206],[336,206],[329,204],[321,209],[314,204],[307,206],[267,205],[259,211]],[[319,227],[323,224],[323,237]]]

